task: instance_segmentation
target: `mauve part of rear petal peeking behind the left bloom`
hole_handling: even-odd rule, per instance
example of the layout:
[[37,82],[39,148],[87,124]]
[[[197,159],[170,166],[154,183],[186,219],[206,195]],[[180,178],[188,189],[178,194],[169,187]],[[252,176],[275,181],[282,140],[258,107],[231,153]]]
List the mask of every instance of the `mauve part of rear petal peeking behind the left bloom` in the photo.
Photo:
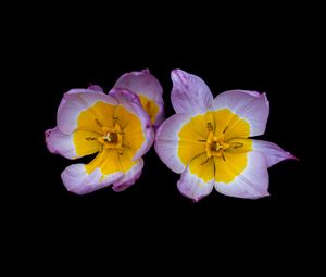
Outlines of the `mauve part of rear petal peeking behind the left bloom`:
[[159,126],[162,123],[164,119],[163,88],[160,81],[150,74],[149,70],[122,75],[115,83],[114,88],[129,89],[155,102],[159,105],[159,114],[153,125]]

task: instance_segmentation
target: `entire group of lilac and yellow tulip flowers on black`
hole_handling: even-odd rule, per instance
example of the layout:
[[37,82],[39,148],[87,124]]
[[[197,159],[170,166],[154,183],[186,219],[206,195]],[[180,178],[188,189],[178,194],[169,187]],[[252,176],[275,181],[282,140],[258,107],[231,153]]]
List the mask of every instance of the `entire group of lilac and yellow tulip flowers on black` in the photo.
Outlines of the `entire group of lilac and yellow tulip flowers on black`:
[[64,93],[57,127],[46,131],[50,152],[67,159],[97,153],[61,177],[85,194],[112,186],[123,191],[140,177],[142,155],[154,143],[162,162],[181,174],[177,188],[198,201],[218,192],[237,198],[268,196],[267,168],[296,159],[263,135],[269,113],[265,93],[229,90],[213,98],[206,84],[181,70],[171,74],[176,112],[164,121],[163,89],[148,70],[126,73],[109,93],[99,86]]

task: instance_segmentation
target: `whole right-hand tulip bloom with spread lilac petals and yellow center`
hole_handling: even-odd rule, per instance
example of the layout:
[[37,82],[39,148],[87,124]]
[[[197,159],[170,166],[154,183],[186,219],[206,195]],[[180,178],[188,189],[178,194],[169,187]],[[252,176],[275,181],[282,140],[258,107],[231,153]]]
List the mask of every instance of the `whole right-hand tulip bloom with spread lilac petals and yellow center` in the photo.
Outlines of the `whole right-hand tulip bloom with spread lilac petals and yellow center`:
[[198,201],[213,187],[226,196],[268,196],[267,167],[294,159],[275,143],[249,137],[264,134],[269,113],[265,93],[230,90],[215,99],[198,76],[172,72],[176,114],[156,131],[155,150],[175,173],[179,191]]

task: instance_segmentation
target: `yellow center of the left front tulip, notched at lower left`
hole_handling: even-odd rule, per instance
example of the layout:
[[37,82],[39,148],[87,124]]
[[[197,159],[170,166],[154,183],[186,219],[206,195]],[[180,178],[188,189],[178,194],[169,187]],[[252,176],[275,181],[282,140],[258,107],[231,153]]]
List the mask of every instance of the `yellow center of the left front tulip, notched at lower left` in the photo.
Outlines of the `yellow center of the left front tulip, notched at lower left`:
[[79,114],[73,136],[76,158],[98,152],[85,165],[86,172],[91,174],[100,168],[103,176],[128,172],[137,163],[133,159],[145,139],[138,116],[123,105],[101,101]]

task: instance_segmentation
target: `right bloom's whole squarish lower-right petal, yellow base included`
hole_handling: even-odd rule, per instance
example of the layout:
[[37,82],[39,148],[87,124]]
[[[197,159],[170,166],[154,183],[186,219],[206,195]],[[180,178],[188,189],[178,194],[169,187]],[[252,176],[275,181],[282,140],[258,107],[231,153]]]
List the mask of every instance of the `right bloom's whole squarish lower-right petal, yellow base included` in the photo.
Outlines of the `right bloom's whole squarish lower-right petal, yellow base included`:
[[215,188],[229,197],[256,199],[269,196],[267,161],[256,151],[225,153],[215,160]]

